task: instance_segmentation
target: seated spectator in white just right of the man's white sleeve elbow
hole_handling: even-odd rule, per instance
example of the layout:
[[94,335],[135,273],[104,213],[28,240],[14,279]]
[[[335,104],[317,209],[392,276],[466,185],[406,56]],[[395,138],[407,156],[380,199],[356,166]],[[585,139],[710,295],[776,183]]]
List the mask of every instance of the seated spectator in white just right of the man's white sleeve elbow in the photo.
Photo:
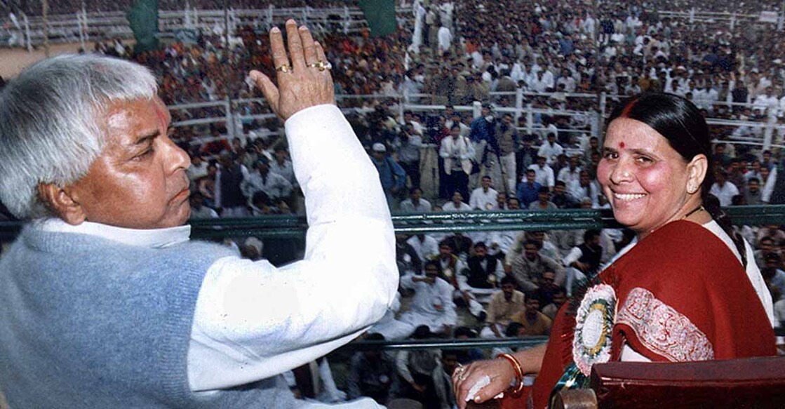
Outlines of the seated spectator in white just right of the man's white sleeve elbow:
[[412,327],[425,325],[436,334],[450,334],[458,316],[452,301],[453,286],[442,278],[442,274],[438,262],[427,261],[425,276],[401,277],[401,287],[414,290],[414,298],[400,321]]

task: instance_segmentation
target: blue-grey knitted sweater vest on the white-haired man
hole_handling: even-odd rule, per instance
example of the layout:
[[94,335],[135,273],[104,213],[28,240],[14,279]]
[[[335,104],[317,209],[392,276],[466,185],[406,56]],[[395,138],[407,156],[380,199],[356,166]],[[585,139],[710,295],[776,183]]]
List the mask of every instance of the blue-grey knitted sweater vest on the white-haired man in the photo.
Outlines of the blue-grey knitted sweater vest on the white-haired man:
[[27,227],[0,259],[0,389],[13,409],[294,407],[268,378],[188,387],[188,341],[207,269],[231,255],[188,242],[128,246]]

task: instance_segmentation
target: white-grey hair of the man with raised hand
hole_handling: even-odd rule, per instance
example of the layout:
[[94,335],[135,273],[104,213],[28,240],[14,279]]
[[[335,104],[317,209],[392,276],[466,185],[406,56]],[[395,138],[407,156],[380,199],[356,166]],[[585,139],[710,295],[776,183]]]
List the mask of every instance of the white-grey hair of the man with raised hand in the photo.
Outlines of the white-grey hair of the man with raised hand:
[[46,217],[37,186],[85,176],[104,148],[108,105],[150,99],[158,86],[139,64],[98,55],[42,60],[0,92],[0,201],[16,217]]

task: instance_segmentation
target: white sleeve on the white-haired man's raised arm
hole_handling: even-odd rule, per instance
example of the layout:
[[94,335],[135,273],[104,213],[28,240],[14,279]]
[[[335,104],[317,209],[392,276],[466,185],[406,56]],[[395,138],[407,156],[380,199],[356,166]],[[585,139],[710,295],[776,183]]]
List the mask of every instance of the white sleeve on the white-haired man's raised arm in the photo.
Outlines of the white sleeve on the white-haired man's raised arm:
[[[224,257],[206,273],[188,349],[194,391],[288,371],[384,316],[398,287],[395,239],[378,173],[334,105],[287,120],[305,195],[305,258],[283,268]],[[363,192],[346,199],[346,188]]]

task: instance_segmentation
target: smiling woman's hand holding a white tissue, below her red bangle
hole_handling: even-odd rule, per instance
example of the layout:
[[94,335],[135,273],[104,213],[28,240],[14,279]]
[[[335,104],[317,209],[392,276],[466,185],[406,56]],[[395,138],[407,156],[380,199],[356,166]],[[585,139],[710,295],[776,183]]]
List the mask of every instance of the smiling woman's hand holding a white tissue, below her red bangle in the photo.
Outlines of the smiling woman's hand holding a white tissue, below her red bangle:
[[469,363],[466,367],[458,367],[452,373],[452,384],[455,388],[455,401],[460,409],[466,407],[466,396],[474,384],[480,382],[484,376],[491,378],[491,383],[481,388],[474,396],[469,396],[475,403],[480,404],[491,400],[499,393],[509,388],[510,382],[515,378],[515,370],[507,360],[481,360]]

